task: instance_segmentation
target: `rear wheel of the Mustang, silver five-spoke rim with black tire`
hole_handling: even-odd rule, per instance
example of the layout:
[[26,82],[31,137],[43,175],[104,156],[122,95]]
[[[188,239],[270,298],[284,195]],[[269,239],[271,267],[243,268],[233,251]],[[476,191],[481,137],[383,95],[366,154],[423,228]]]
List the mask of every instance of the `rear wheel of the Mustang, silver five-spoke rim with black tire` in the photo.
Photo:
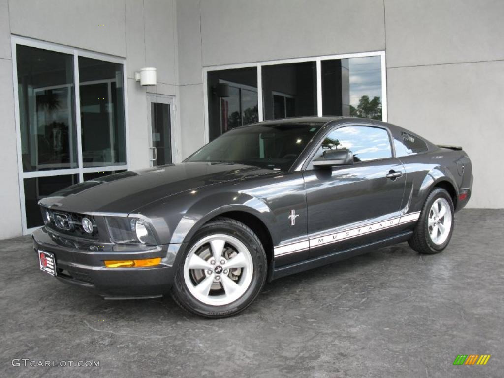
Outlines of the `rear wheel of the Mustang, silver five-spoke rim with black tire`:
[[409,245],[422,254],[436,254],[446,248],[455,223],[453,201],[446,190],[436,187],[425,200]]

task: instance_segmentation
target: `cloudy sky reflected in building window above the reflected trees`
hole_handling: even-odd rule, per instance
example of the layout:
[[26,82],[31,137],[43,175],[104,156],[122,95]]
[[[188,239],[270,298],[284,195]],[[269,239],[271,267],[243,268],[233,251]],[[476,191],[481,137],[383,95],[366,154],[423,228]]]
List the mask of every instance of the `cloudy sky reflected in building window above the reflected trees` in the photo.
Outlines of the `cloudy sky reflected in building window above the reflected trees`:
[[350,105],[357,107],[359,99],[366,95],[369,100],[382,99],[382,70],[380,56],[349,58]]

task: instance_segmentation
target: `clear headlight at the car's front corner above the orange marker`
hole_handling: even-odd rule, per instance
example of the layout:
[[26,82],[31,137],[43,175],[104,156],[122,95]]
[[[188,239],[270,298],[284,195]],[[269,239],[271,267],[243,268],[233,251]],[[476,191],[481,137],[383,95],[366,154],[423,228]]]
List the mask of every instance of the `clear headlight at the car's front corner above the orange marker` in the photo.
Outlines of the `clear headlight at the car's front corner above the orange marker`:
[[149,225],[140,218],[105,217],[110,237],[116,243],[157,244]]

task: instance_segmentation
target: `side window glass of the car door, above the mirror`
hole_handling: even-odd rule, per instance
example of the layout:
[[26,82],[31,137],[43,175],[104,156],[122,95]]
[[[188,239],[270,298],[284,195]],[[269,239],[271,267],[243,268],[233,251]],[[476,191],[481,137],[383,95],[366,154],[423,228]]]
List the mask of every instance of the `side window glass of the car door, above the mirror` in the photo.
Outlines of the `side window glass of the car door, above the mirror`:
[[354,162],[392,157],[389,133],[370,126],[345,126],[330,132],[313,159],[322,158],[326,150],[350,150]]

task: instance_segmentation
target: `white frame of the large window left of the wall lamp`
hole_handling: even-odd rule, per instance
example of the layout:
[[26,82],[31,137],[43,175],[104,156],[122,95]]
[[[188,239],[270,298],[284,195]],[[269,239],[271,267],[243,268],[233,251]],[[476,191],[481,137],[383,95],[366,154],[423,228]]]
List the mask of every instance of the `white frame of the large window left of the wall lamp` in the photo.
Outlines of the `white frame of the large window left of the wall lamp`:
[[[44,50],[62,52],[73,56],[74,59],[74,100],[75,100],[75,114],[76,114],[76,133],[77,133],[77,168],[66,168],[66,169],[55,169],[55,170],[41,170],[41,171],[23,171],[23,161],[22,161],[22,149],[21,149],[21,122],[20,122],[20,111],[19,111],[19,93],[18,93],[18,62],[17,62],[17,52],[16,47],[18,45],[29,46],[40,48]],[[36,39],[20,37],[13,35],[11,36],[11,52],[12,52],[12,72],[13,72],[13,86],[14,86],[14,110],[15,110],[15,123],[16,123],[16,147],[17,147],[17,160],[18,160],[18,180],[19,180],[19,196],[21,205],[21,226],[23,235],[27,235],[35,231],[36,229],[42,227],[31,227],[27,228],[26,222],[26,207],[25,207],[25,190],[24,190],[24,179],[25,178],[35,178],[35,177],[46,177],[46,176],[60,176],[77,174],[78,181],[84,181],[84,173],[95,173],[95,172],[109,172],[116,170],[128,170],[130,167],[130,140],[129,140],[129,110],[128,110],[128,70],[126,59],[124,57],[108,55],[100,52],[89,51],[81,48],[70,47],[66,45],[60,45],[52,42],[39,41]],[[121,165],[108,165],[108,166],[98,166],[98,167],[88,167],[83,166],[82,158],[82,137],[81,137],[81,101],[80,101],[80,83],[79,83],[79,56],[99,59],[104,61],[109,61],[112,63],[122,65],[122,87],[123,87],[123,101],[124,101],[124,136],[126,142],[126,164]]]

